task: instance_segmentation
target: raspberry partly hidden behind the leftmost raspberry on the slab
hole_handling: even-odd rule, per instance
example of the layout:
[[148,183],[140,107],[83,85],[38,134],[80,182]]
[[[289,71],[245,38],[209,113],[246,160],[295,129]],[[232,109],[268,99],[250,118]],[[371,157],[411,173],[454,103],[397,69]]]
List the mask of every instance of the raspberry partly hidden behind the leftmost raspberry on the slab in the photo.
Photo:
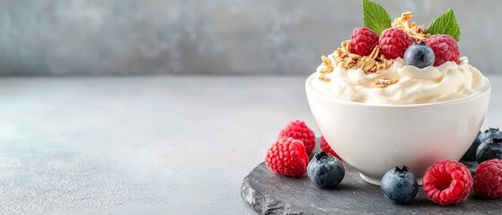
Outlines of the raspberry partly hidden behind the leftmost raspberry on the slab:
[[292,137],[295,140],[304,142],[307,155],[312,153],[315,147],[315,133],[305,125],[304,121],[293,120],[289,122],[279,133],[277,140]]

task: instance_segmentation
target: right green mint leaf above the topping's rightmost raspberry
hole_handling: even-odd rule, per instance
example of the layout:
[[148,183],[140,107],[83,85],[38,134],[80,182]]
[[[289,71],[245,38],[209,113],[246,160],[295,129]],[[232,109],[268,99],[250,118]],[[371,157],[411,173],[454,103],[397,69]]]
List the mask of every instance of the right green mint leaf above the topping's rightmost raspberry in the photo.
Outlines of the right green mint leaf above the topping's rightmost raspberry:
[[460,39],[460,26],[455,18],[454,10],[448,9],[445,13],[427,27],[429,34],[447,34],[457,41]]

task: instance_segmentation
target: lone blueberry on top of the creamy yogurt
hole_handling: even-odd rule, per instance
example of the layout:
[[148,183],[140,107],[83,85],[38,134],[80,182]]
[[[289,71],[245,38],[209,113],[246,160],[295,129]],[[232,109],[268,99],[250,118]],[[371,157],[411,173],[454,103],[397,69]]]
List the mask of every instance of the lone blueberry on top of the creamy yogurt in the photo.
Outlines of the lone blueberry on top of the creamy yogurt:
[[404,63],[407,65],[415,65],[418,68],[424,68],[433,65],[436,56],[432,48],[425,43],[415,43],[408,47],[404,52]]

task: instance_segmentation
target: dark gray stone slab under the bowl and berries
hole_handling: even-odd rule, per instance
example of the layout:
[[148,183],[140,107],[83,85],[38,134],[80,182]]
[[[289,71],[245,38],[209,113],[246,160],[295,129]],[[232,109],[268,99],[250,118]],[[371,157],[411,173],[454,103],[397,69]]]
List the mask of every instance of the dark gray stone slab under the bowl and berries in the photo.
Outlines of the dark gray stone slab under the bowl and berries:
[[[469,166],[469,165],[468,165]],[[363,181],[345,164],[346,175],[334,189],[321,189],[307,176],[279,176],[265,163],[252,169],[241,187],[242,199],[261,214],[501,214],[502,199],[481,200],[474,193],[454,206],[431,202],[421,187],[409,204],[388,201],[380,186]],[[475,167],[470,167],[475,168]]]

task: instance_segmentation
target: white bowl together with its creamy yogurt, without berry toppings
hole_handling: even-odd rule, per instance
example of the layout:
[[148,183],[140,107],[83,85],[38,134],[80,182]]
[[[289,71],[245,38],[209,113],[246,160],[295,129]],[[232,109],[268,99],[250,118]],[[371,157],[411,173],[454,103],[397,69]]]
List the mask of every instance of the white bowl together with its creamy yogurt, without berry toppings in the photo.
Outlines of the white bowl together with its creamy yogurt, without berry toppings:
[[421,185],[434,162],[460,159],[489,106],[489,80],[465,56],[425,68],[397,58],[378,73],[341,64],[322,73],[326,66],[305,82],[315,122],[340,158],[374,185],[402,166]]

